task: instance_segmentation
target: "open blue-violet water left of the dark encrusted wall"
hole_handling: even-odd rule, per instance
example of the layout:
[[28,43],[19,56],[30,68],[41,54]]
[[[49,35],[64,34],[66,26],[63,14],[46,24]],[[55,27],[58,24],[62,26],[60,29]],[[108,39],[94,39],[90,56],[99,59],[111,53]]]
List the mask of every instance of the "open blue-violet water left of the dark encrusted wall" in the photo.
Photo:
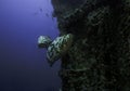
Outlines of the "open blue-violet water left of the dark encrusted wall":
[[0,91],[57,91],[60,62],[51,68],[37,38],[58,35],[50,0],[0,0]]

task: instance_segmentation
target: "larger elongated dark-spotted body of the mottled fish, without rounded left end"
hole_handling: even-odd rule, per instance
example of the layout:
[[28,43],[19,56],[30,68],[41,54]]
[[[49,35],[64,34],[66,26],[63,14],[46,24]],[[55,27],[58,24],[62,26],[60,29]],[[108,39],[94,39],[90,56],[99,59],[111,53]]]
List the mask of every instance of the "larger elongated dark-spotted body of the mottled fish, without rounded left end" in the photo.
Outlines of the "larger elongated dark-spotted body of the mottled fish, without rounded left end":
[[74,36],[67,34],[61,37],[57,37],[48,48],[47,58],[52,66],[55,61],[60,60],[70,48],[73,43]]

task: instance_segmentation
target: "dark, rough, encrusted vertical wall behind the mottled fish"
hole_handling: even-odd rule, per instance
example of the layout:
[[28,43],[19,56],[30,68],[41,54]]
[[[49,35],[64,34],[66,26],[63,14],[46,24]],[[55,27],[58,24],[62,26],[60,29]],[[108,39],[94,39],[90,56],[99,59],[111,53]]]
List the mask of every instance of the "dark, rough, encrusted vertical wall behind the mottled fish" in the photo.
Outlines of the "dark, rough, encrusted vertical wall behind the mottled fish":
[[62,91],[130,91],[130,1],[70,3],[52,0],[61,35],[75,36],[62,57]]

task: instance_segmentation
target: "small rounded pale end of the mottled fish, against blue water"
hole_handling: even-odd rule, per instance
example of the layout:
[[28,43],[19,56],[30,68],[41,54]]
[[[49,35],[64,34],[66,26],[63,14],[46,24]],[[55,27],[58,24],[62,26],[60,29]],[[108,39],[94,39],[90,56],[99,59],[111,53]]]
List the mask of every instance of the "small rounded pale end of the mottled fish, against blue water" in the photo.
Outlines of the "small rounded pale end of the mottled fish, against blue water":
[[38,47],[39,48],[48,48],[51,42],[52,42],[52,40],[48,36],[40,36],[38,38]]

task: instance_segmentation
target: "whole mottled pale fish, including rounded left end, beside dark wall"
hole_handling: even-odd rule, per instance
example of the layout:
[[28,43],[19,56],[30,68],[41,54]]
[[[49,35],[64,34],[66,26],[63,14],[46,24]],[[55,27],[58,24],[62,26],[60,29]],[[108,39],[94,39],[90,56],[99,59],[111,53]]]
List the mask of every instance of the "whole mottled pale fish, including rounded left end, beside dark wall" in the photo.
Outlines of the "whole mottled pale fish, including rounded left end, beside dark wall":
[[38,38],[39,48],[47,48],[47,58],[52,66],[55,61],[60,60],[67,53],[72,47],[74,36],[72,34],[57,37],[55,40],[51,40],[48,36],[40,36]]

